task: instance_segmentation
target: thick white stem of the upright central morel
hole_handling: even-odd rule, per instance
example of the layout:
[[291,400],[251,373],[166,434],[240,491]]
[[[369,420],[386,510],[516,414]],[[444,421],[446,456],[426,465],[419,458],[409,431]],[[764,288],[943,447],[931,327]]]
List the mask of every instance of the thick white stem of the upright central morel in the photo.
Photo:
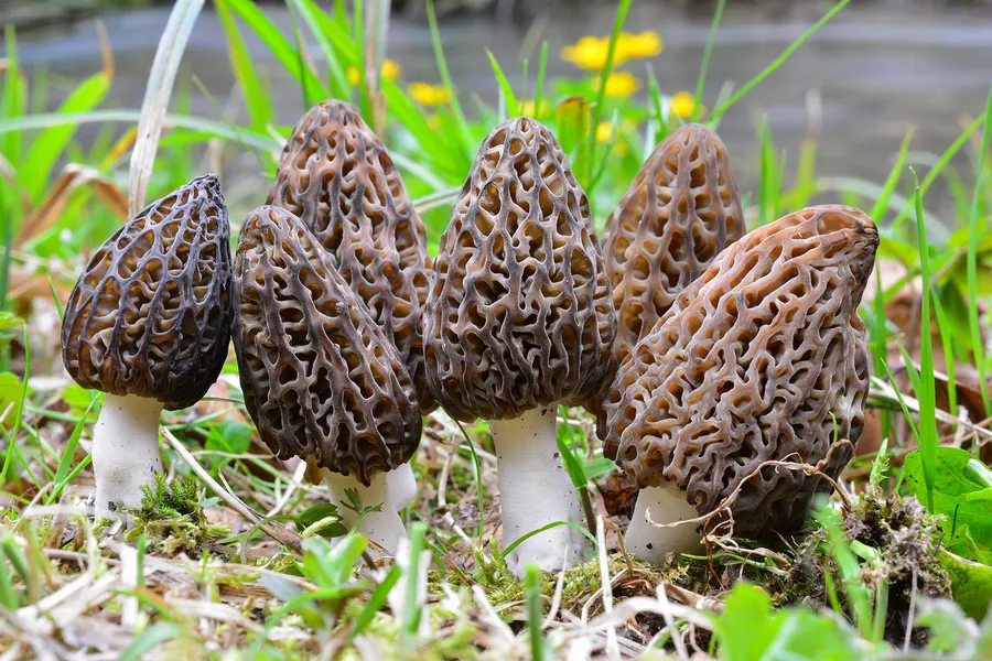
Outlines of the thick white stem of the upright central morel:
[[[528,411],[516,420],[489,421],[496,445],[503,549],[556,521],[581,525],[579,495],[562,465],[556,441],[553,407]],[[584,555],[585,537],[571,525],[556,525],[520,543],[506,556],[507,567],[522,576],[529,563],[554,572]]]

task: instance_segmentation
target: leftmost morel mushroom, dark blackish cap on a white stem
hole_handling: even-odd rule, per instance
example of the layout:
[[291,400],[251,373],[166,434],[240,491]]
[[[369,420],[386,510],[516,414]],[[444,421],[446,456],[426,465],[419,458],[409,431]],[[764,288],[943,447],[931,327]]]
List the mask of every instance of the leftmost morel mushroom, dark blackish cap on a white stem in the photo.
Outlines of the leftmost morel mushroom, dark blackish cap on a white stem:
[[96,516],[141,505],[162,470],[159,415],[217,380],[231,323],[230,229],[216,175],[155,201],[107,239],[69,295],[62,359],[106,393],[93,434]]

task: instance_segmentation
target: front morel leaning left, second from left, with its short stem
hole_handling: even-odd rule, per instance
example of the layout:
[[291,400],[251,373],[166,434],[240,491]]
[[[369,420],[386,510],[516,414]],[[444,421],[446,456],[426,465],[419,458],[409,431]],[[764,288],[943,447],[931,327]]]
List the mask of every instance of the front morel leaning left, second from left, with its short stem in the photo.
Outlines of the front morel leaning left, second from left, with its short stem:
[[262,441],[282,459],[306,459],[348,525],[357,513],[345,489],[381,506],[358,530],[395,553],[406,531],[386,475],[410,459],[422,424],[398,351],[285,209],[245,219],[235,278],[238,372]]

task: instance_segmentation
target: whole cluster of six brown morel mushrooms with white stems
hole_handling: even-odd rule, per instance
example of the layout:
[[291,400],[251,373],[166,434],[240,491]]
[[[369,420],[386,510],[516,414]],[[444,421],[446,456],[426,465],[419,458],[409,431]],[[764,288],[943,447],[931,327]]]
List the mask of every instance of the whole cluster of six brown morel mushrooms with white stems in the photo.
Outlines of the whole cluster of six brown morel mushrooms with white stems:
[[[161,410],[204,395],[233,337],[262,440],[305,459],[333,501],[356,489],[380,505],[359,530],[387,555],[416,496],[422,415],[439,404],[489,422],[504,546],[582,520],[559,404],[596,415],[605,455],[640,489],[628,552],[660,562],[714,525],[795,532],[863,427],[856,308],[878,234],[844,206],[744,229],[725,147],[690,124],[650,155],[601,248],[558,141],[521,117],[483,142],[432,264],[382,142],[352,106],[323,102],[290,137],[233,266],[206,175],[129,220],[79,278],[63,358],[107,393],[96,513],[139,505],[162,470]],[[557,525],[507,563],[556,570],[586,551]]]

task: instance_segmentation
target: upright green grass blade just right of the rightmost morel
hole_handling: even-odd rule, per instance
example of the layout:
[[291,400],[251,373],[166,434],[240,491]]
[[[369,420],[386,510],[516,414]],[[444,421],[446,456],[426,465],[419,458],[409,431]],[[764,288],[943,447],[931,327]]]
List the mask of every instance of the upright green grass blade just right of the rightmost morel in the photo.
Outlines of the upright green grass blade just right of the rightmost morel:
[[916,232],[919,241],[920,285],[923,301],[920,303],[919,365],[920,392],[919,400],[919,454],[923,459],[924,479],[927,484],[927,509],[934,511],[934,484],[937,480],[937,435],[936,394],[934,387],[934,349],[930,334],[930,253],[927,247],[926,219],[923,213],[923,194],[919,180],[913,173],[916,189]]

